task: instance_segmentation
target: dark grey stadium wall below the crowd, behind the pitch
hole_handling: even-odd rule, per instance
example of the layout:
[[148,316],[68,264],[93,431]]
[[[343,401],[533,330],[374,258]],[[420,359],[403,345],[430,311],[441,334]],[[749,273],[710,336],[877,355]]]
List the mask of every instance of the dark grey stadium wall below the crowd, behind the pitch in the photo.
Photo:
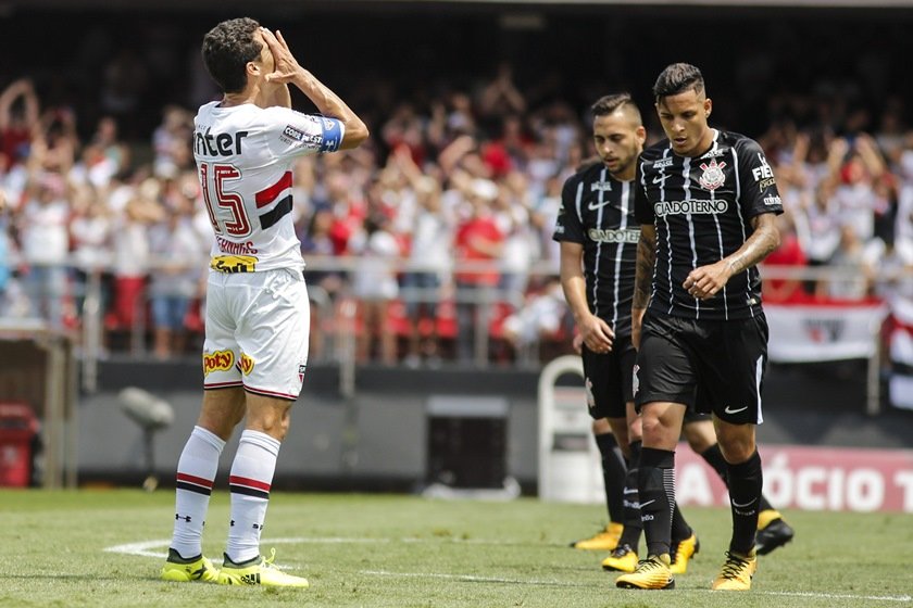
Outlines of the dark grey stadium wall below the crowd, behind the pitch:
[[[911,448],[913,413],[865,415],[864,362],[772,366],[764,387],[771,446]],[[143,434],[121,409],[118,392],[145,389],[168,402],[174,422],[154,434],[154,474],[170,484],[199,411],[196,363],[103,363],[101,391],[78,404],[79,482],[138,483],[147,474]],[[309,369],[283,444],[277,486],[313,490],[412,491],[429,479],[433,403],[473,407],[502,404],[503,469],[535,493],[538,454],[538,370],[360,367],[346,398],[334,365]],[[575,379],[561,377],[560,384]],[[579,384],[579,379],[576,379]],[[580,407],[585,407],[580,403]],[[497,417],[497,415],[496,415]],[[488,436],[464,438],[468,453],[490,448]],[[233,444],[226,448],[233,452]],[[488,443],[486,443],[488,442]],[[483,445],[485,444],[485,445]],[[227,476],[229,459],[220,476]]]

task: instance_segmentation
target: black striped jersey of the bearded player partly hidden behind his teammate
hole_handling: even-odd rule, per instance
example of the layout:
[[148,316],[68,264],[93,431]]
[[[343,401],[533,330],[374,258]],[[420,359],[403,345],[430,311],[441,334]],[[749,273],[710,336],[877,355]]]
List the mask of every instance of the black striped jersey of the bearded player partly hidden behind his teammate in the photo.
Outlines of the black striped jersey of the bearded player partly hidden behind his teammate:
[[630,335],[630,303],[640,226],[634,218],[634,182],[614,179],[598,163],[567,178],[561,193],[555,241],[584,246],[589,309],[616,335]]

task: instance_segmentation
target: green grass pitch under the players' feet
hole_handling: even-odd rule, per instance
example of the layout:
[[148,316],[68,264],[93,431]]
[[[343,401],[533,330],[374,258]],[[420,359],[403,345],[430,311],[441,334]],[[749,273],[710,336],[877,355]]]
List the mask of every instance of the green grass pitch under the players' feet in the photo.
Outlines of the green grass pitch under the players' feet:
[[[0,491],[0,606],[902,607],[913,606],[913,516],[789,511],[796,540],[760,558],[752,591],[711,592],[729,514],[686,508],[701,553],[675,591],[614,586],[603,554],[570,541],[598,506],[274,492],[263,550],[308,591],[165,583],[173,492]],[[204,552],[216,563],[228,498],[216,492]],[[641,543],[642,546],[642,543]]]

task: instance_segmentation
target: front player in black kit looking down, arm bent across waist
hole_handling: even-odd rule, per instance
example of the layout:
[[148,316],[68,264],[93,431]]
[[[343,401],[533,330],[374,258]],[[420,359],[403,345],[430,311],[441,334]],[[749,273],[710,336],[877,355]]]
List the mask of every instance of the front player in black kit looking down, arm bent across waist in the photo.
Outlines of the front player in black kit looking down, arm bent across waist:
[[631,304],[638,346],[635,402],[643,443],[638,472],[648,557],[616,580],[672,588],[675,446],[685,413],[701,400],[727,463],[733,535],[714,590],[746,591],[758,565],[754,535],[763,479],[755,447],[767,324],[755,267],[779,244],[776,180],[753,140],[711,128],[701,72],[667,66],[653,86],[667,139],[637,162],[640,226]]

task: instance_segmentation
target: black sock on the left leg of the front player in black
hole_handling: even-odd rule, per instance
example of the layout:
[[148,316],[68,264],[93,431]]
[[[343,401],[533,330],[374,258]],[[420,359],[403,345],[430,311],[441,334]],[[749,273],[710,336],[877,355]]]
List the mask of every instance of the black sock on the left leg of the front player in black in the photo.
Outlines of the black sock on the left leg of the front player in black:
[[670,553],[672,509],[675,504],[675,452],[645,447],[640,451],[637,489],[640,521],[647,536],[647,555]]

